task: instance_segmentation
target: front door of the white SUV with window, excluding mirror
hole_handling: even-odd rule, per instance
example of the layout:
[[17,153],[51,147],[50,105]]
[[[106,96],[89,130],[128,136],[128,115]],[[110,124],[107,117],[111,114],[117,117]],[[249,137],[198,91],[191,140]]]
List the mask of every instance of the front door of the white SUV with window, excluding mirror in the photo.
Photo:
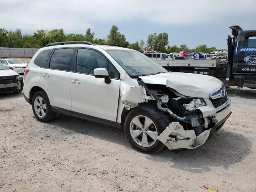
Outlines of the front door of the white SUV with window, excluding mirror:
[[[116,122],[120,75],[108,59],[97,50],[78,48],[76,72],[71,74],[72,111]],[[106,68],[111,79],[95,78],[94,69]]]

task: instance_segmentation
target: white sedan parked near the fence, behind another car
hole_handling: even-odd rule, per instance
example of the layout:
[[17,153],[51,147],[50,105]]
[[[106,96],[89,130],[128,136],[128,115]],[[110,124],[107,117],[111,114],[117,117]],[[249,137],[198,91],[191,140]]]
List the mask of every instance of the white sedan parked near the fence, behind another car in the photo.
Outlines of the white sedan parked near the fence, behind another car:
[[0,63],[20,74],[24,73],[24,68],[27,67],[27,63],[20,59],[2,59]]

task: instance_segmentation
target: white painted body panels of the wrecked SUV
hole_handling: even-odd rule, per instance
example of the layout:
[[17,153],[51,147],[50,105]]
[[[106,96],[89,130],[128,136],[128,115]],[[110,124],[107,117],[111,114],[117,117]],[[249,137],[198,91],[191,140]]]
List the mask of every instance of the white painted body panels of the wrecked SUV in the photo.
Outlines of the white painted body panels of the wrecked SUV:
[[[144,86],[140,86],[135,78],[131,78],[126,71],[114,60],[105,50],[129,50],[114,46],[93,46],[93,45],[64,45],[65,47],[92,48],[101,52],[115,66],[120,73],[120,79],[111,78],[111,83],[106,84],[103,78],[95,78],[93,75],[80,74],[77,72],[66,72],[60,70],[43,69],[34,64],[36,56],[42,51],[52,48],[62,48],[51,46],[40,49],[30,61],[28,67],[30,72],[26,75],[24,96],[30,98],[30,91],[34,86],[40,86],[46,91],[50,104],[72,112],[90,115],[105,120],[121,123],[121,115],[124,108],[129,110],[138,106],[139,103],[154,100],[146,95]],[[161,73],[156,75],[140,76],[146,84],[166,85],[179,94],[194,98],[203,98],[206,106],[198,107],[202,111],[203,117],[214,117],[216,122],[224,120],[230,114],[230,99],[220,108],[214,108],[210,101],[210,94],[222,87],[222,82],[212,76],[188,73]],[[50,85],[50,86],[49,86]],[[31,98],[30,98],[31,99]],[[132,105],[128,106],[128,102]],[[222,110],[218,112],[219,110]],[[170,127],[170,126],[169,126]],[[158,139],[168,148],[166,140],[172,129],[166,128]],[[181,130],[182,131],[182,130]],[[187,132],[186,130],[183,130]],[[182,131],[182,132],[183,132]],[[198,135],[198,146],[204,144],[210,131],[204,131]],[[192,132],[188,133],[191,134]],[[194,135],[192,136],[194,138]],[[174,142],[174,141],[170,141]],[[170,142],[168,142],[170,144]],[[176,142],[176,141],[175,141]],[[196,142],[196,141],[194,141]],[[191,147],[188,142],[180,142],[179,148]],[[182,144],[184,143],[184,144]],[[174,143],[172,143],[173,145]],[[172,147],[173,148],[173,147]]]

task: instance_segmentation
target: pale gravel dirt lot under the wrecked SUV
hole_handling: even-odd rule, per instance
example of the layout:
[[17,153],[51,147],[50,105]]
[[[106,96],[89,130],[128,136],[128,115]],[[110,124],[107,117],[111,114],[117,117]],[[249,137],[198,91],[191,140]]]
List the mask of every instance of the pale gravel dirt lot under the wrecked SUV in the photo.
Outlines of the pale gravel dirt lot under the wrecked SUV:
[[137,152],[116,128],[64,115],[38,122],[22,94],[2,94],[0,191],[206,192],[212,183],[219,192],[255,192],[256,91],[228,92],[233,113],[214,138],[158,154]]

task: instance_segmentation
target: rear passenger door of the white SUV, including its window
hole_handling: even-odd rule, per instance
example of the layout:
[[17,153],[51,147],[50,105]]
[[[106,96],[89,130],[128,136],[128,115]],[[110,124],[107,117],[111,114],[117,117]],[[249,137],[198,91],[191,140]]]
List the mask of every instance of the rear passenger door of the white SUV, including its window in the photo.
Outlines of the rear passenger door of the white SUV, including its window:
[[46,91],[51,106],[70,110],[70,112],[70,76],[74,50],[74,48],[55,49],[46,68],[42,70],[40,78],[40,87]]

